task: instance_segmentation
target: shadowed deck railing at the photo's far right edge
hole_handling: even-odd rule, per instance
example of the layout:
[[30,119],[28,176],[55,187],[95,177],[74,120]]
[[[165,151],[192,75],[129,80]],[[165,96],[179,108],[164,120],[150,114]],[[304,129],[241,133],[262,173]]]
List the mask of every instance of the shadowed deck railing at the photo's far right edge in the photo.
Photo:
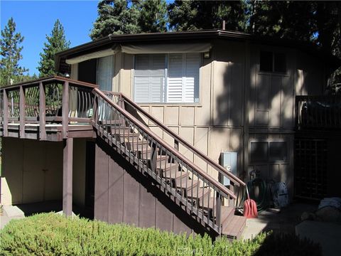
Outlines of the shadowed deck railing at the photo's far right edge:
[[296,129],[341,129],[341,95],[296,96]]

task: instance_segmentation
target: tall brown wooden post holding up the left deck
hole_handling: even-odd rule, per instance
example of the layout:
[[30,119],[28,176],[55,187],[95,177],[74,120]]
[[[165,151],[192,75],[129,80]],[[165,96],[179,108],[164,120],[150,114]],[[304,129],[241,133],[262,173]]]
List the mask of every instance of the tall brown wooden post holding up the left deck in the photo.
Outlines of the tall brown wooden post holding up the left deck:
[[73,138],[64,139],[63,142],[63,213],[71,216]]

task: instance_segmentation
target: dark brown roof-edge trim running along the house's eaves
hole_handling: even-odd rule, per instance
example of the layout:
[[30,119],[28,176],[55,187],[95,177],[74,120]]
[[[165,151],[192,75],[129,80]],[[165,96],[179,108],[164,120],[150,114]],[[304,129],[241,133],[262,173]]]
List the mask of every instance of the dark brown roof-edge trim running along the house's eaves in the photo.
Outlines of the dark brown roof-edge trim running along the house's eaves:
[[299,48],[303,51],[308,51],[318,57],[323,58],[332,68],[337,68],[341,65],[341,60],[330,53],[321,51],[313,43],[286,40],[283,38],[271,38],[269,36],[256,36],[249,33],[238,31],[224,31],[220,29],[202,30],[202,31],[183,31],[183,32],[167,32],[167,33],[140,33],[140,34],[124,34],[124,35],[109,35],[100,38],[97,41],[76,46],[60,53],[55,54],[55,69],[60,70],[60,60],[66,58],[84,55],[97,51],[99,49],[111,48],[117,43],[175,43],[188,41],[205,41],[214,38],[222,38],[227,40],[249,41],[251,43],[262,43],[266,45],[275,45],[291,48]]

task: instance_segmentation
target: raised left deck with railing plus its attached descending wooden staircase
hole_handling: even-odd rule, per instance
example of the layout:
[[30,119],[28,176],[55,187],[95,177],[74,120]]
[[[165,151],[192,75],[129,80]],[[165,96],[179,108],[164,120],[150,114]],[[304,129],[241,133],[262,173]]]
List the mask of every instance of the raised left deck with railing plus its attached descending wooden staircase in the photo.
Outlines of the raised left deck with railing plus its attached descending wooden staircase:
[[[47,92],[53,92],[47,93]],[[173,139],[168,144],[147,124]],[[32,129],[32,127],[34,129]],[[92,137],[93,132],[139,171],[151,178],[210,235],[239,238],[245,218],[234,215],[234,188],[245,183],[207,157],[121,93],[97,85],[49,77],[0,89],[0,135],[40,141]],[[179,152],[185,149],[205,162],[201,169]],[[229,178],[229,188],[209,175]],[[186,216],[186,217],[188,217]]]

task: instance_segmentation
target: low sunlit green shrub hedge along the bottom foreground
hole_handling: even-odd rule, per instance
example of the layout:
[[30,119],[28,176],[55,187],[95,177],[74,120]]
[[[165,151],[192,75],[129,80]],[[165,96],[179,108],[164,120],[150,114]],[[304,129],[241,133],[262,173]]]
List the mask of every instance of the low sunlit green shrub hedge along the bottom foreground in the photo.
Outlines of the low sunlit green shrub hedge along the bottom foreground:
[[[153,228],[108,225],[54,213],[11,220],[0,235],[0,255],[286,255],[277,253],[280,251],[277,247],[283,247],[286,240],[290,240],[292,251],[295,245],[307,250],[306,253],[298,250],[298,255],[320,253],[317,245],[293,236],[276,237],[262,233],[244,242],[229,242],[226,238],[212,242],[207,235],[187,238],[186,235]],[[274,240],[274,245],[271,245],[271,240]]]

